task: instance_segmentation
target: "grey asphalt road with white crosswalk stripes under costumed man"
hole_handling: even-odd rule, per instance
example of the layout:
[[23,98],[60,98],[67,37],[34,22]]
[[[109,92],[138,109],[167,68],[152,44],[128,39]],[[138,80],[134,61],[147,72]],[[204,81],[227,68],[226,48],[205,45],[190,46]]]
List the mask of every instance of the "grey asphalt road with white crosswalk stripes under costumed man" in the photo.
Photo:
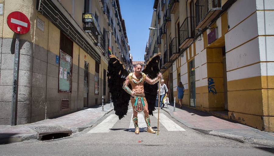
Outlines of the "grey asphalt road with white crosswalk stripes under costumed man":
[[[140,134],[134,134],[132,108],[119,120],[114,111],[82,132],[55,140],[28,140],[0,145],[0,155],[274,155],[273,147],[240,143],[190,129],[160,110],[159,135],[146,132],[138,116]],[[157,129],[157,109],[150,117]]]

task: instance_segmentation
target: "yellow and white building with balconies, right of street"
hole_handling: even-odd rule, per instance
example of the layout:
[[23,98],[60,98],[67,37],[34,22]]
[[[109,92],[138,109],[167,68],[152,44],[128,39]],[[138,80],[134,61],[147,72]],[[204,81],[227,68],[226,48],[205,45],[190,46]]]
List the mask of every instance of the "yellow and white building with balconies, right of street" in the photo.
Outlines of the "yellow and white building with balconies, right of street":
[[155,0],[153,9],[169,96],[178,102],[182,82],[184,106],[273,132],[274,1]]

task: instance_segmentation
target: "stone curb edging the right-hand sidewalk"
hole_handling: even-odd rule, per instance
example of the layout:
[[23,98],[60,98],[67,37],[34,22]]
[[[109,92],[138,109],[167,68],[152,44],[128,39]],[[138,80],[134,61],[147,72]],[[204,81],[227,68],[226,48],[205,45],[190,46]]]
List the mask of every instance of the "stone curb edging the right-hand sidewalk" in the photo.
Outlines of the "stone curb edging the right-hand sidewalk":
[[167,112],[172,118],[178,120],[179,122],[181,122],[182,124],[184,124],[188,128],[197,130],[199,132],[202,132],[202,133],[205,133],[205,134],[208,134],[208,135],[219,136],[221,138],[235,140],[235,141],[238,141],[240,143],[253,143],[253,144],[258,144],[258,145],[263,145],[263,146],[270,146],[270,147],[274,146],[274,141],[272,141],[272,140],[264,140],[264,139],[256,139],[256,138],[250,138],[250,137],[245,137],[245,136],[238,136],[238,135],[233,135],[233,134],[216,132],[216,131],[211,130],[211,129],[204,129],[204,128],[200,128],[200,127],[195,127],[195,126],[191,125],[190,123],[187,123],[186,121],[182,120],[181,118],[178,118],[177,116],[175,116],[171,111],[167,110],[166,108],[163,108],[163,111]]

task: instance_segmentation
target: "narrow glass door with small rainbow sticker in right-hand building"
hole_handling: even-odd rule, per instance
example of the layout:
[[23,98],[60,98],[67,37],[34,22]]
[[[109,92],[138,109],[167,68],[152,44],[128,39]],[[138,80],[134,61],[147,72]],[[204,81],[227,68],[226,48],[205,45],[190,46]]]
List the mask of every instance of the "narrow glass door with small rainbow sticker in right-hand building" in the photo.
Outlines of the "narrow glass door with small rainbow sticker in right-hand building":
[[195,92],[195,61],[191,60],[188,64],[189,67],[189,97],[190,106],[196,107],[196,92]]

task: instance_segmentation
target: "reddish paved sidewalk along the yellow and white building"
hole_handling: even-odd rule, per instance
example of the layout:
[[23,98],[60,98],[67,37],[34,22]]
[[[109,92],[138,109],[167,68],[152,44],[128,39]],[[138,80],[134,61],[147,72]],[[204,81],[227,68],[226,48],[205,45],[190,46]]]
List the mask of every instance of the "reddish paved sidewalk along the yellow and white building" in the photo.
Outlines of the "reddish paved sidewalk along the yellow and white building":
[[173,104],[168,105],[168,108],[165,106],[163,110],[191,129],[242,143],[248,142],[274,146],[274,133],[261,131],[247,125],[217,118],[212,114],[188,107],[180,109],[178,104],[176,104],[176,107],[178,108],[175,108],[175,112],[173,112]]

